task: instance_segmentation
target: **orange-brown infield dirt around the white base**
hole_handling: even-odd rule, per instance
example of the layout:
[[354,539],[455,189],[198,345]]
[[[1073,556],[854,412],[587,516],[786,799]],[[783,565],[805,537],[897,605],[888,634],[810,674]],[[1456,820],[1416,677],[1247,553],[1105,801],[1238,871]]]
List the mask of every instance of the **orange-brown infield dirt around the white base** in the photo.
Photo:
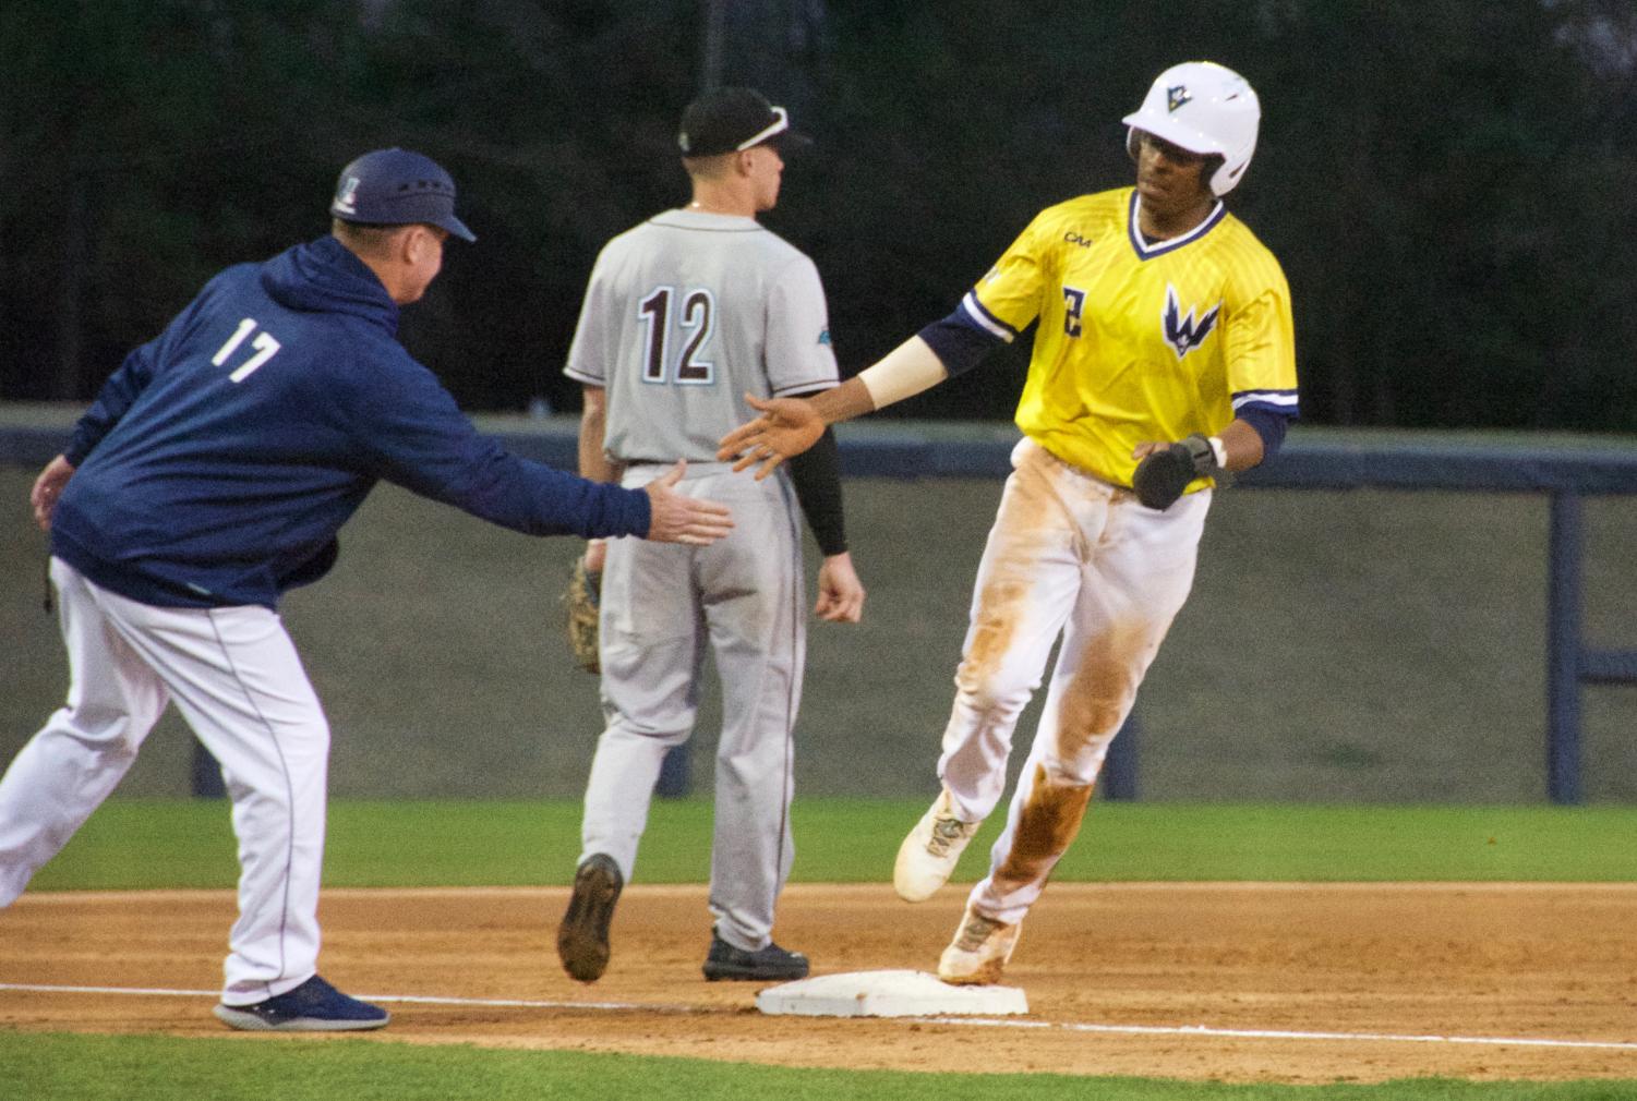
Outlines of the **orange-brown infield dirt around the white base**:
[[[931,970],[963,895],[912,908],[884,885],[796,885],[778,939],[814,973]],[[566,888],[326,892],[321,968],[360,996],[449,1000],[388,1001],[380,1042],[1218,1081],[1637,1080],[1637,883],[1059,883],[1007,972],[1028,993],[1023,1026],[763,1016],[758,985],[699,973],[702,887],[629,888],[609,972],[581,985],[552,947],[565,903]],[[226,1032],[211,995],[136,993],[214,990],[232,918],[229,892],[25,895],[0,911],[0,983],[120,990],[0,986],[0,1027],[268,1042]]]

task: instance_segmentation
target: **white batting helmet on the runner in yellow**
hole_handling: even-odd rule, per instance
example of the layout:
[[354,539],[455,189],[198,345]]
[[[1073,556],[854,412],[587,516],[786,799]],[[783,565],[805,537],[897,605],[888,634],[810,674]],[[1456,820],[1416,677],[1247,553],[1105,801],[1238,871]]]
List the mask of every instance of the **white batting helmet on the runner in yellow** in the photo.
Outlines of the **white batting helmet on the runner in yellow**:
[[1262,103],[1233,69],[1188,61],[1159,74],[1143,106],[1120,121],[1131,128],[1126,131],[1126,149],[1133,157],[1138,131],[1188,152],[1221,157],[1221,167],[1211,173],[1211,193],[1228,195],[1251,167]]

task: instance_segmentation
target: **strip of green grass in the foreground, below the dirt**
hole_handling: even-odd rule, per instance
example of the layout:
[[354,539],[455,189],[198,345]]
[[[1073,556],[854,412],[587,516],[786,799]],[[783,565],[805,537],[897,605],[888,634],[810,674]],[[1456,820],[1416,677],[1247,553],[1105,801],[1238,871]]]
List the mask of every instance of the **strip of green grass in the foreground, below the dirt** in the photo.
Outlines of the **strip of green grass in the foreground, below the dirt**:
[[691,1098],[851,1101],[1614,1101],[1619,1081],[1467,1083],[1413,1078],[1382,1085],[1229,1086],[1064,1075],[920,1075],[796,1070],[692,1058],[512,1052],[363,1040],[182,1040],[0,1032],[0,1088],[31,1101],[530,1101]]

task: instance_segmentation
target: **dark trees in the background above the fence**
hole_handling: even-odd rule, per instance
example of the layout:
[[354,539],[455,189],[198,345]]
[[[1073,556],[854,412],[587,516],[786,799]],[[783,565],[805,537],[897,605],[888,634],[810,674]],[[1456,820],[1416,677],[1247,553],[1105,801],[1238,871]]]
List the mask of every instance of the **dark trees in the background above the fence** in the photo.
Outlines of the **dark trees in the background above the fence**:
[[[710,82],[817,137],[766,221],[856,371],[1035,211],[1128,183],[1120,116],[1193,57],[1262,97],[1229,203],[1290,276],[1310,422],[1637,429],[1629,0],[8,0],[0,399],[90,398],[396,144],[480,236],[406,344],[467,409],[575,409],[591,262],[686,196],[676,118]],[[1023,362],[892,414],[1007,417]]]

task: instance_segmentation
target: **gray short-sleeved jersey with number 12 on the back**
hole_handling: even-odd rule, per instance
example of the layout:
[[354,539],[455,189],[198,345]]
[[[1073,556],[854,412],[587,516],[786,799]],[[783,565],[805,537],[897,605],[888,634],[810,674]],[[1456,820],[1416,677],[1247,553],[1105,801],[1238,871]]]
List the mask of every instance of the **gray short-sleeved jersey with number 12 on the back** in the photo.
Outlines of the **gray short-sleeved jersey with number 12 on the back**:
[[598,257],[563,373],[607,389],[614,461],[712,461],[746,393],[837,384],[818,270],[753,218],[650,218]]

